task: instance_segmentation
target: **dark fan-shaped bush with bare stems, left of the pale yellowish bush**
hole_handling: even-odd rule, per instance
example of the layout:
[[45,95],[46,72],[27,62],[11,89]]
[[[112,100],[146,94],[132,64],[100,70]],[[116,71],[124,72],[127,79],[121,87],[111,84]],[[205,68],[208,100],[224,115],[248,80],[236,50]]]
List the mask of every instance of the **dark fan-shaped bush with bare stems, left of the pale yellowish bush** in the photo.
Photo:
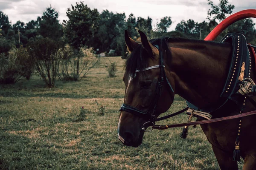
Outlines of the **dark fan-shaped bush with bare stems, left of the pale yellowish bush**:
[[49,38],[35,40],[29,45],[29,54],[35,68],[49,88],[54,87],[61,60],[61,43]]

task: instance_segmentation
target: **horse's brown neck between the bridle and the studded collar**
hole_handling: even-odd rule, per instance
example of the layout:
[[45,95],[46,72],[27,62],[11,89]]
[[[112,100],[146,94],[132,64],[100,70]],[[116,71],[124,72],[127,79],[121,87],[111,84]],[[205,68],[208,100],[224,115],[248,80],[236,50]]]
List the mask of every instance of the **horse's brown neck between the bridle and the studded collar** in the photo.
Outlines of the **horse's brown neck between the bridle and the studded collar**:
[[171,44],[175,93],[199,108],[218,101],[228,74],[231,45]]

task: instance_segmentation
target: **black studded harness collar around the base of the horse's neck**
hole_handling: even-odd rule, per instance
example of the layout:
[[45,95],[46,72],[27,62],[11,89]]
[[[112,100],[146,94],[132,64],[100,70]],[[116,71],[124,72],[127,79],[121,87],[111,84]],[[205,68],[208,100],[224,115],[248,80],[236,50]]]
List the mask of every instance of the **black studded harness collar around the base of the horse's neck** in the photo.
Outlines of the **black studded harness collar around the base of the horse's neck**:
[[[207,106],[206,108],[198,108],[192,103],[187,102],[189,108],[194,108],[197,111],[203,111],[207,113],[212,113],[219,108],[223,107],[228,100],[231,100],[236,103],[238,109],[242,111],[244,109],[244,96],[238,94],[237,91],[240,88],[242,83],[239,80],[241,73],[241,66],[244,63],[244,78],[250,78],[251,71],[251,59],[249,49],[247,47],[246,38],[243,34],[240,33],[230,33],[227,34],[221,41],[221,43],[227,42],[232,44],[233,52],[232,59],[230,61],[229,73],[227,75],[226,83],[220,95],[220,100],[215,105]],[[221,52],[221,51],[218,51]]]

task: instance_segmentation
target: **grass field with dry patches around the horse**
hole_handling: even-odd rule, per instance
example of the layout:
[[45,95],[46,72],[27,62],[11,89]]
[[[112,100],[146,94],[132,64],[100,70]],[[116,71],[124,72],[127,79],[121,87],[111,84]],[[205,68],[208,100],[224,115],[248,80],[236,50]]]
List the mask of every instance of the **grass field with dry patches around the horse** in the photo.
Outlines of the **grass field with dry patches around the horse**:
[[[104,64],[118,63],[116,77]],[[45,88],[38,76],[0,87],[0,169],[10,170],[216,170],[218,162],[200,126],[145,133],[140,147],[127,147],[117,137],[119,107],[125,86],[124,60],[102,58],[80,82],[56,81]],[[99,115],[99,105],[105,115]],[[84,106],[86,119],[79,121]],[[175,97],[172,113],[184,108]],[[186,122],[185,114],[162,121]],[[241,163],[242,164],[242,163]],[[241,164],[239,167],[241,168]]]

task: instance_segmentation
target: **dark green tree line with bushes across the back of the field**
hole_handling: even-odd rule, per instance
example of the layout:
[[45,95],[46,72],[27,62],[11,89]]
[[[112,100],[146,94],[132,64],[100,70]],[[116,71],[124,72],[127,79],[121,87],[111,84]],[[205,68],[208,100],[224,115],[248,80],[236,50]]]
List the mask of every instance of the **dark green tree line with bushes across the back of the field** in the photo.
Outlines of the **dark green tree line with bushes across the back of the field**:
[[[125,13],[113,13],[108,10],[100,13],[83,2],[67,9],[68,19],[62,23],[58,20],[58,11],[51,6],[45,9],[41,17],[28,23],[19,20],[11,24],[9,17],[0,11],[0,83],[16,82],[21,75],[29,79],[33,69],[50,84],[49,87],[54,86],[56,77],[65,81],[79,80],[79,77],[85,76],[82,72],[87,73],[87,69],[96,63],[93,51],[107,53],[113,49],[114,55],[126,54],[123,37],[125,30],[137,41],[140,38],[137,30],[145,32],[149,39],[174,36],[203,40],[219,22],[232,14],[235,8],[227,0],[220,0],[217,5],[212,0],[207,2],[207,20],[201,23],[192,19],[181,20],[175,31],[169,32],[168,28],[173,23],[172,17],[161,18],[153,27],[150,17],[136,17],[134,14],[126,17]],[[256,44],[254,26],[255,23],[250,18],[240,20],[225,29],[216,41],[228,32],[240,32],[248,42]],[[32,61],[35,63],[31,63]],[[20,66],[15,68],[15,65]],[[3,70],[9,70],[9,78],[6,72],[3,74]],[[61,74],[57,70],[61,70]],[[5,79],[1,80],[1,77]]]

